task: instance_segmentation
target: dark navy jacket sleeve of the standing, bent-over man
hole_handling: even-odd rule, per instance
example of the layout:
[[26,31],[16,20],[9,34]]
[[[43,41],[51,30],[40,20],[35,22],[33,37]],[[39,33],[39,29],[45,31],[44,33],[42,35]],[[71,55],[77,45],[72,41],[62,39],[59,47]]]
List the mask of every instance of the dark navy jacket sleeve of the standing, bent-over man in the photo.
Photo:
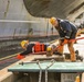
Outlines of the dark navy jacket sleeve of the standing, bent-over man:
[[70,23],[61,22],[61,26],[65,33],[65,38],[70,38],[71,33],[72,33],[72,28],[71,28]]

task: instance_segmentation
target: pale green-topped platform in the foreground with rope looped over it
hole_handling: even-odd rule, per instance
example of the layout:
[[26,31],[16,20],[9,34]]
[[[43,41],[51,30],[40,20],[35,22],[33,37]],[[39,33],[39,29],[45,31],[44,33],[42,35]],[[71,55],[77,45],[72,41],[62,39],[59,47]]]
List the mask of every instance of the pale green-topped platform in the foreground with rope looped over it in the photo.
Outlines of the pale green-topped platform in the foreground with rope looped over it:
[[[56,61],[54,59],[43,61],[20,62],[8,69],[13,74],[21,75],[19,82],[76,82],[82,79],[84,62]],[[25,75],[25,78],[24,78]],[[17,81],[15,81],[17,82]]]

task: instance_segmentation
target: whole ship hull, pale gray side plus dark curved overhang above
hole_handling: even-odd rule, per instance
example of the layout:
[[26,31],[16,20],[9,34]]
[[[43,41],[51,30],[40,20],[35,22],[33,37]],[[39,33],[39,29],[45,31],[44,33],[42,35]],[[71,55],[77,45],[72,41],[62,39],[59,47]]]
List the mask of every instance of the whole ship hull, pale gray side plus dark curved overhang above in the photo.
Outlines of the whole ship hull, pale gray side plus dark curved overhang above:
[[74,21],[83,5],[84,0],[0,0],[0,39],[50,35],[50,16]]

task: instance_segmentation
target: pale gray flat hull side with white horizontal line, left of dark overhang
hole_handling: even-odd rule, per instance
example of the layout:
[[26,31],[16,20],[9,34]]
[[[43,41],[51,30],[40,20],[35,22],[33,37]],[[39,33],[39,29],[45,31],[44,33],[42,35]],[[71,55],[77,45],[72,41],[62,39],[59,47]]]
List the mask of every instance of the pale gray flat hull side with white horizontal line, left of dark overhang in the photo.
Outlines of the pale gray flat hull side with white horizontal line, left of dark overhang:
[[0,0],[0,38],[46,35],[49,20],[32,16],[23,0]]

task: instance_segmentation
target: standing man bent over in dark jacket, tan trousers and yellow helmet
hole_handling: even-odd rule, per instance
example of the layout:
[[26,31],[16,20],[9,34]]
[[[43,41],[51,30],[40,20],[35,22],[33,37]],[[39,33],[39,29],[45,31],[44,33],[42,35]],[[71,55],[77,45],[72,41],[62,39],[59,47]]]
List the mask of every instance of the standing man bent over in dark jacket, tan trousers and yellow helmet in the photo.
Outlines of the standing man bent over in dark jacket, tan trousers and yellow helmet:
[[67,47],[71,54],[71,61],[75,61],[76,56],[75,56],[73,44],[75,42],[75,36],[77,32],[76,26],[71,22],[69,22],[67,20],[61,20],[56,17],[51,17],[50,23],[59,32],[60,37],[63,38],[60,40],[61,47],[57,49],[57,51],[63,55],[63,47],[65,44],[67,44]]

